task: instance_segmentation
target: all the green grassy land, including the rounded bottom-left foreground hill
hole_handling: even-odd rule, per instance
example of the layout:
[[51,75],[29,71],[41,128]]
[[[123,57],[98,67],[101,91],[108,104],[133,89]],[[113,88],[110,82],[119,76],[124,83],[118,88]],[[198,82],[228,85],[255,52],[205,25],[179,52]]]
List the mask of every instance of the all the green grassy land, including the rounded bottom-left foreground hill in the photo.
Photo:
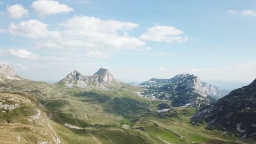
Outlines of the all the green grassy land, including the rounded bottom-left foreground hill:
[[194,107],[159,112],[170,101],[144,99],[141,91],[124,83],[85,89],[1,75],[1,111],[11,107],[0,116],[1,142],[240,143],[232,133],[190,122]]

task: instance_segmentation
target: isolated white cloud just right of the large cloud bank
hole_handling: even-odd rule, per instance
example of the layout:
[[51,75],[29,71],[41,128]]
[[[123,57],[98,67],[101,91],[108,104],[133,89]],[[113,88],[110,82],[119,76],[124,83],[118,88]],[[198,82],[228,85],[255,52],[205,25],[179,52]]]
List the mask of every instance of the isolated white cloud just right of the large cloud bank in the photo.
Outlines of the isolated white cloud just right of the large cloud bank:
[[175,27],[153,26],[148,28],[148,31],[139,36],[139,38],[157,42],[166,41],[167,43],[171,43],[176,41],[177,43],[181,43],[188,40],[187,37],[180,36],[183,33],[183,31]]

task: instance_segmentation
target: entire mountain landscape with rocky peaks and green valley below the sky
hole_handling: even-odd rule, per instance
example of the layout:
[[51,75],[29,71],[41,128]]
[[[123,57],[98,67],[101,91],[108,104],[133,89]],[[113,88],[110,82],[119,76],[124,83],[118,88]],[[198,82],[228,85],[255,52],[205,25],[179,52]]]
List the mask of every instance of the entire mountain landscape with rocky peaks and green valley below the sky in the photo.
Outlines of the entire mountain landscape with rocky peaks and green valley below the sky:
[[254,143],[255,83],[223,97],[191,74],[135,87],[101,68],[46,83],[0,65],[0,143]]

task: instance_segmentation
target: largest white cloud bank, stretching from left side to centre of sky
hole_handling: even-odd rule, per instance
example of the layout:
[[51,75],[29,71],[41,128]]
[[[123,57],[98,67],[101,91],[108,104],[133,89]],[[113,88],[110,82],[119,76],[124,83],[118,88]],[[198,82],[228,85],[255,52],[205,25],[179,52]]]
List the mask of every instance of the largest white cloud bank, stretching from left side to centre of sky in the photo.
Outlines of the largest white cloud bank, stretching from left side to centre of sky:
[[8,31],[13,35],[37,39],[37,47],[41,49],[52,47],[109,53],[145,45],[144,41],[127,34],[127,31],[138,27],[138,24],[132,22],[75,16],[59,23],[59,26],[61,31],[50,31],[48,25],[37,20],[28,20],[11,23]]

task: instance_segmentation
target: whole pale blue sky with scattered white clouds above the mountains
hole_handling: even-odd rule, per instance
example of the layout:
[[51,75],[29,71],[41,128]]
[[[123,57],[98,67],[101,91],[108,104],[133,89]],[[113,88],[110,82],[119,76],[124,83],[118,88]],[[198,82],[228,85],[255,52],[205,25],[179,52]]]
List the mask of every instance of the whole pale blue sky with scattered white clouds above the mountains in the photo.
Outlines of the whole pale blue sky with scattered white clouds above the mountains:
[[0,0],[0,64],[59,81],[107,68],[123,82],[256,78],[256,1]]

